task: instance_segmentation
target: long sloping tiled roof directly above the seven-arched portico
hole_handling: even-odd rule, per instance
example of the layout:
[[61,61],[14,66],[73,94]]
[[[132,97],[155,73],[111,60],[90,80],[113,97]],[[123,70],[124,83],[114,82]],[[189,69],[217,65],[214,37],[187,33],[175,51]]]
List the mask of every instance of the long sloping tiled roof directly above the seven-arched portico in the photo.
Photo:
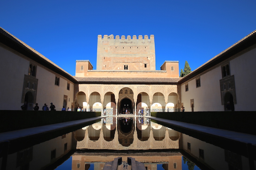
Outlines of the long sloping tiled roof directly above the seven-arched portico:
[[181,78],[109,78],[75,77],[79,83],[88,84],[177,84]]

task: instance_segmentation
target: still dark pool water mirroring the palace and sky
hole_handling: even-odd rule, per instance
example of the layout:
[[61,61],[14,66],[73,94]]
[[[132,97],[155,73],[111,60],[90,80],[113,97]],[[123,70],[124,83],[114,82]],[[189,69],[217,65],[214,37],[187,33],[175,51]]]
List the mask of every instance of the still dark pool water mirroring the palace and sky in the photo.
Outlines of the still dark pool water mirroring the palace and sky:
[[145,117],[106,117],[57,136],[14,142],[9,148],[0,158],[6,163],[3,170],[102,170],[117,157],[122,157],[118,170],[131,169],[127,157],[144,163],[147,170],[250,169],[243,155]]

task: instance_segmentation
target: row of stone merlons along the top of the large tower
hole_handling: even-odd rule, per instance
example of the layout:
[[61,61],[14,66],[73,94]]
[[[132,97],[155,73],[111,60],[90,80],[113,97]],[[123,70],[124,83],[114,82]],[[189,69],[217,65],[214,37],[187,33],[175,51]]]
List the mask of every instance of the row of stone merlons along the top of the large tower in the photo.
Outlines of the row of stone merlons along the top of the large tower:
[[133,35],[132,37],[130,35],[127,35],[127,37],[125,35],[122,35],[121,37],[119,35],[114,36],[113,34],[111,35],[98,35],[98,39],[102,39],[102,40],[110,40],[110,39],[122,39],[122,40],[134,40],[134,39],[139,39],[139,40],[147,40],[147,39],[151,39],[154,40],[155,36],[154,35],[150,35],[150,37],[148,37],[148,35],[144,35],[144,37],[142,35],[139,35],[138,37],[136,35]]

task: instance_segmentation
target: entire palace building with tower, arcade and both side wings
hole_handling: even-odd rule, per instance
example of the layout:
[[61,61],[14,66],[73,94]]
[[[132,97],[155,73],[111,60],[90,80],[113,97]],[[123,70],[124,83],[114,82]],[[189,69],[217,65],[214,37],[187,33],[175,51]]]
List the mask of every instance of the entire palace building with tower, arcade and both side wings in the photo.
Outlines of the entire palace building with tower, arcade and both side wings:
[[[98,35],[97,69],[76,61],[75,76],[0,28],[2,110],[53,103],[107,115],[148,112],[255,111],[255,31],[179,78],[179,62],[155,68],[154,35]],[[208,56],[206,56],[208,57]],[[210,58],[210,57],[209,57]]]

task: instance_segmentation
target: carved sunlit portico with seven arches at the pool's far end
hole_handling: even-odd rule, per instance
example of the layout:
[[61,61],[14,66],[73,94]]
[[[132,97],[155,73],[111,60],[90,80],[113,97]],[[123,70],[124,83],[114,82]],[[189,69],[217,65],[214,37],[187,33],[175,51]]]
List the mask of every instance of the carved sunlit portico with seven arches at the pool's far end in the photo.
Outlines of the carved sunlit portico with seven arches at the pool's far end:
[[[159,79],[157,80],[159,81]],[[179,88],[175,84],[160,85],[160,83],[154,84],[153,82],[148,84],[117,83],[79,84],[75,88],[76,106],[82,107],[86,111],[93,109],[93,111],[102,113],[105,108],[107,115],[124,114],[123,109],[126,110],[126,108],[133,115],[138,115],[138,111],[141,108],[144,109],[144,113],[146,113],[146,108],[150,112],[174,112],[180,108]]]

